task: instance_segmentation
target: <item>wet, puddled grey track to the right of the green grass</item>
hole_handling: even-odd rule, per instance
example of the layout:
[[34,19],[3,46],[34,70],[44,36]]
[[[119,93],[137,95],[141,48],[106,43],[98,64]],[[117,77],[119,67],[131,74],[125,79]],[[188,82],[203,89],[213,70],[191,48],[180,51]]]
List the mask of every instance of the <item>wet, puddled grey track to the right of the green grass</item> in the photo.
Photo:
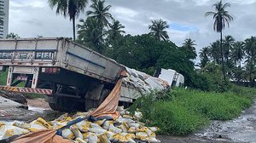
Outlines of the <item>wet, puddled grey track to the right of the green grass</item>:
[[256,100],[240,117],[226,122],[214,121],[208,129],[195,136],[256,143]]

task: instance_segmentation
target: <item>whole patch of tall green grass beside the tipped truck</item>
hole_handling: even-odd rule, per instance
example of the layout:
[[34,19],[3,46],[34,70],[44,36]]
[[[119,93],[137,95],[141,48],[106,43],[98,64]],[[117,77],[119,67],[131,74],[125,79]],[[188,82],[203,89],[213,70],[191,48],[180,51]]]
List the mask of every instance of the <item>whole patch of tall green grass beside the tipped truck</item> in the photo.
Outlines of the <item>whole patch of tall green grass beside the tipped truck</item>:
[[187,135],[207,125],[209,120],[237,117],[252,103],[250,96],[235,92],[175,89],[167,94],[143,96],[130,110],[138,108],[143,112],[143,122],[160,127],[160,134]]

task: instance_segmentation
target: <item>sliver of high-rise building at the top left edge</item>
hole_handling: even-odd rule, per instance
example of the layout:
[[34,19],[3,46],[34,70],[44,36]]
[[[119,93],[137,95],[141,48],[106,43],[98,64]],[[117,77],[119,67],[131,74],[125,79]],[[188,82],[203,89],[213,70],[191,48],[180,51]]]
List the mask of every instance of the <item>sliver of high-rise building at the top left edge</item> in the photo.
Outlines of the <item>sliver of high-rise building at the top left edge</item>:
[[0,38],[9,32],[9,0],[0,0]]

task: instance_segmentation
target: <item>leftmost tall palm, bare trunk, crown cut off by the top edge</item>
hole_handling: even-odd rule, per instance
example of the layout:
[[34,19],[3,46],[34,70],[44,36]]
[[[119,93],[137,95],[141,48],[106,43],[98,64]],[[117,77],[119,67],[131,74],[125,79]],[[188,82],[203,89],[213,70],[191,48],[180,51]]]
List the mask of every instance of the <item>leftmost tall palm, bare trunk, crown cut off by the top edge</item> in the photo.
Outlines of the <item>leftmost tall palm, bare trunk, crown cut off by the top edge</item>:
[[69,19],[73,20],[73,40],[75,41],[75,18],[79,17],[80,13],[84,13],[88,0],[49,0],[48,3],[51,9],[56,7],[56,14],[63,14],[64,17],[68,15]]

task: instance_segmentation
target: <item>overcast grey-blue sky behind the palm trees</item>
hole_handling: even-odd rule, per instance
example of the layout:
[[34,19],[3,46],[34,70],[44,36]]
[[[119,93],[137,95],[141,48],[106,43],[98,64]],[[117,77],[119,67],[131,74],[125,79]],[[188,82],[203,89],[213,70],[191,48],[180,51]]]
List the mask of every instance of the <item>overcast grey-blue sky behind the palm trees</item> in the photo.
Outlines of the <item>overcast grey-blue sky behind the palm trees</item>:
[[[49,9],[48,0],[10,0],[9,32],[20,37],[73,37],[72,22]],[[218,33],[212,30],[212,17],[205,17],[217,0],[106,0],[110,13],[124,26],[126,34],[147,33],[151,20],[166,20],[170,40],[180,46],[186,38],[197,44],[197,52],[214,42]],[[236,40],[256,36],[256,0],[224,0],[234,17],[224,36]],[[87,8],[88,9],[88,8]],[[81,14],[80,18],[85,18]],[[77,20],[78,21],[78,20]]]

